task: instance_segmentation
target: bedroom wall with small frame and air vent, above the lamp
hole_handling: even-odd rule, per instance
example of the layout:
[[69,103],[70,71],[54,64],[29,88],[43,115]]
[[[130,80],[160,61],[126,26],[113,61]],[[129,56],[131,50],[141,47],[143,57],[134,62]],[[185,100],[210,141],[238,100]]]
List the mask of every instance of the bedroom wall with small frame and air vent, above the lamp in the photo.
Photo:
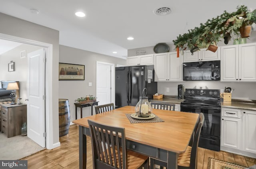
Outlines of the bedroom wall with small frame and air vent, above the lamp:
[[[20,52],[26,50],[26,54],[36,51],[42,47],[22,44],[14,49],[0,55],[0,81],[19,81],[21,102],[26,103],[27,98],[27,78],[28,78],[28,59],[20,58]],[[14,62],[14,71],[8,72],[8,63]]]

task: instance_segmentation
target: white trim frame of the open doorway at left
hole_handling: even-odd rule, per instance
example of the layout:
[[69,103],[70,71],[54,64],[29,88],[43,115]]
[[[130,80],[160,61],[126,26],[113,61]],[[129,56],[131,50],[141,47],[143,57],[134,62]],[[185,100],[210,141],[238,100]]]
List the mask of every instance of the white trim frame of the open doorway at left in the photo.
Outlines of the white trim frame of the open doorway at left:
[[[45,125],[45,133],[47,133],[46,136],[46,148],[47,149],[53,149],[55,147],[60,146],[60,142],[54,143],[54,129],[52,127],[52,110],[53,110],[53,106],[52,105],[52,50],[53,50],[53,46],[52,44],[49,43],[44,43],[44,42],[40,42],[40,41],[34,41],[34,40],[30,40],[30,39],[24,39],[21,37],[15,37],[12,35],[6,35],[3,33],[0,33],[0,39],[4,39],[4,40],[9,40],[9,41],[16,41],[16,42],[20,42],[20,43],[25,43],[25,44],[29,44],[29,45],[35,45],[35,46],[39,46],[45,49],[45,56],[46,56],[46,60],[47,62],[45,63],[45,72],[46,75],[48,75],[47,78],[44,79],[44,81],[42,83],[45,84],[45,94],[44,98],[45,99],[45,109],[44,109],[44,115],[45,115],[45,120],[44,123]],[[46,134],[44,134],[45,136]]]

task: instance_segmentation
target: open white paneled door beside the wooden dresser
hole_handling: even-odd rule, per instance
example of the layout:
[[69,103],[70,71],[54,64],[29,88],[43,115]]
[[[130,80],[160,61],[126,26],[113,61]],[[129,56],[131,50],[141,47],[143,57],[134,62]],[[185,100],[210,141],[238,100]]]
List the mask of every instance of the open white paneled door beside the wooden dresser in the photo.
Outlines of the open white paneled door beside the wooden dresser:
[[27,133],[31,140],[42,147],[45,147],[44,59],[44,49],[28,53]]

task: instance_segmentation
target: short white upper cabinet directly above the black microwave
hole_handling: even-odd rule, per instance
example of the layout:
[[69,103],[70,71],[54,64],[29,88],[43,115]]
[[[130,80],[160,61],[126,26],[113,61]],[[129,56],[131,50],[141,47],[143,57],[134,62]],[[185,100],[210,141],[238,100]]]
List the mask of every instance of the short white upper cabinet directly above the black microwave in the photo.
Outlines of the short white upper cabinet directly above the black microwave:
[[206,51],[205,49],[200,49],[199,51],[192,53],[190,51],[184,51],[183,62],[198,62],[198,61],[216,61],[220,60],[220,50],[216,52]]

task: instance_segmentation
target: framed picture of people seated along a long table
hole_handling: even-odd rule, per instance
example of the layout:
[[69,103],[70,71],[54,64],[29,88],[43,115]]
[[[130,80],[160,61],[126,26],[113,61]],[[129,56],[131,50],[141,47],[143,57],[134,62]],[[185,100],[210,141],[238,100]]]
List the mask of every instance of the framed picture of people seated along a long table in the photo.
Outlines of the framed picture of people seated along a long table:
[[59,63],[59,80],[84,80],[84,65]]

